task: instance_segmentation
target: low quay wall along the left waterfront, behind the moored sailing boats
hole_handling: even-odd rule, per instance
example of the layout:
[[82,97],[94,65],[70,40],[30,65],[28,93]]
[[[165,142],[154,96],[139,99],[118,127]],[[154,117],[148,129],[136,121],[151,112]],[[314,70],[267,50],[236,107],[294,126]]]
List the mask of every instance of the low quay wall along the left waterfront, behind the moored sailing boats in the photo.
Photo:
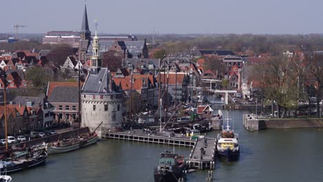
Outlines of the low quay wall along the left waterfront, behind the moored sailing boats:
[[[80,132],[81,132],[81,134],[83,134],[83,133],[86,133],[86,132],[90,132],[90,130],[88,129],[88,127],[86,127],[86,128],[81,128]],[[67,131],[67,132],[59,133],[59,134],[53,134],[53,135],[46,136],[46,137],[43,137],[43,138],[17,143],[15,145],[17,147],[22,147],[25,143],[26,143],[26,146],[37,145],[37,144],[43,143],[43,142],[48,143],[48,142],[52,142],[52,141],[57,141],[58,139],[68,139],[68,138],[70,138],[72,136],[77,136],[77,134],[79,134],[79,129],[70,130],[70,131]],[[8,148],[10,148],[10,145],[8,146]],[[5,150],[5,149],[6,149],[5,145],[0,147],[0,151]]]

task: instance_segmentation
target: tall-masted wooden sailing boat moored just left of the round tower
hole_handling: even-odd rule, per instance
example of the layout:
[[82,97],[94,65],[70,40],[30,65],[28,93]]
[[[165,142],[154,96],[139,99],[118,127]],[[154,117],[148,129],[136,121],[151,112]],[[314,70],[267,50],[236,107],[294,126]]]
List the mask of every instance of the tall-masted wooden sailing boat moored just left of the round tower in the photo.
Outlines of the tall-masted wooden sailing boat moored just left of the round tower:
[[[85,134],[81,134],[81,81],[80,81],[80,65],[79,65],[79,135],[77,137],[73,137],[70,139],[62,139],[56,142],[47,143],[46,150],[48,154],[58,154],[58,153],[65,153],[70,152],[72,150],[77,150],[79,148],[84,148],[88,145],[97,143],[98,136],[95,133],[97,128],[94,132],[88,132]],[[101,123],[100,123],[101,125]]]

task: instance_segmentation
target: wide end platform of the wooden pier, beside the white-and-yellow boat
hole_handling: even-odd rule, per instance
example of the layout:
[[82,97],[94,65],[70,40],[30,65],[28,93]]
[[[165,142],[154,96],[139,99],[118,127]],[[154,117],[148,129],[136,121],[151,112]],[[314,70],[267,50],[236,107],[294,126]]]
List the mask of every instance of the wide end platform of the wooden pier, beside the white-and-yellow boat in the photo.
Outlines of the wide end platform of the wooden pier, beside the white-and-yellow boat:
[[213,170],[215,168],[216,145],[216,139],[199,138],[190,152],[188,168]]

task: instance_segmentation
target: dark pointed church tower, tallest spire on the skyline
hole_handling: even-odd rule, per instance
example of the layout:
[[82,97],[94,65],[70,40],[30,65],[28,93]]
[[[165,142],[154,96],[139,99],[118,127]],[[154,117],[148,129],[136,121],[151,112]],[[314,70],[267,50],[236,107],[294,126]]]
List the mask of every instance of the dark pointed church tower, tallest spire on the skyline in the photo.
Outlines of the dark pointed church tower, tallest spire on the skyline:
[[81,31],[79,32],[79,61],[86,61],[86,52],[91,41],[91,32],[88,28],[88,13],[86,12],[86,4],[84,5],[83,21]]

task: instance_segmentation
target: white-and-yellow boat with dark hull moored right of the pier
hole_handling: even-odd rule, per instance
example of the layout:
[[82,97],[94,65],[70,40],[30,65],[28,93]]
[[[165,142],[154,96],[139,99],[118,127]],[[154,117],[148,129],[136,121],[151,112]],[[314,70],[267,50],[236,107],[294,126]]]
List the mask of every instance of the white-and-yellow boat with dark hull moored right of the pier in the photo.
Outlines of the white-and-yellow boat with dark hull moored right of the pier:
[[217,152],[220,156],[226,157],[228,161],[237,161],[239,159],[238,134],[230,129],[228,119],[226,121],[226,129],[222,125],[222,132],[217,134]]

